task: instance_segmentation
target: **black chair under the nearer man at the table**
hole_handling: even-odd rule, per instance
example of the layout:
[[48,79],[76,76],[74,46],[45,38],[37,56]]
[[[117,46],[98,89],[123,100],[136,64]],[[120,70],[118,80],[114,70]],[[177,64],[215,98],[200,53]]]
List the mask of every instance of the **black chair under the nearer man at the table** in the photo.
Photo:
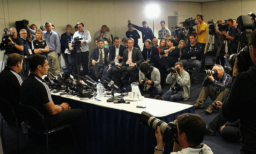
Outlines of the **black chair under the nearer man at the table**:
[[[75,148],[77,151],[77,144],[76,144],[74,134],[73,134],[73,131],[71,128],[72,124],[61,125],[61,126],[57,126],[55,128],[49,129],[45,123],[45,117],[36,108],[34,108],[30,105],[24,105],[21,102],[19,102],[19,104],[24,107],[25,116],[27,117],[28,128],[32,132],[35,132],[37,134],[46,135],[47,153],[49,153],[49,134],[59,131],[59,130],[62,130],[62,129],[65,129],[65,128],[70,128],[71,134],[74,139]],[[28,131],[27,131],[27,141],[26,142],[27,142],[27,147],[29,149],[28,138],[29,138],[29,136],[28,136]]]

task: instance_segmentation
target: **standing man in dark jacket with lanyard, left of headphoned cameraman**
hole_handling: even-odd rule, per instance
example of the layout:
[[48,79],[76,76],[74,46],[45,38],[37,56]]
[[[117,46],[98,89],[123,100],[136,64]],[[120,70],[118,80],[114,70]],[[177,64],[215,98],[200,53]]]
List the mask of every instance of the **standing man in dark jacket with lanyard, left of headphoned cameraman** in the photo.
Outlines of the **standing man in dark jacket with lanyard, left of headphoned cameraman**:
[[68,74],[76,72],[76,52],[71,46],[73,34],[71,33],[71,25],[66,25],[66,33],[63,33],[60,37],[61,52],[65,53],[65,58],[68,64]]

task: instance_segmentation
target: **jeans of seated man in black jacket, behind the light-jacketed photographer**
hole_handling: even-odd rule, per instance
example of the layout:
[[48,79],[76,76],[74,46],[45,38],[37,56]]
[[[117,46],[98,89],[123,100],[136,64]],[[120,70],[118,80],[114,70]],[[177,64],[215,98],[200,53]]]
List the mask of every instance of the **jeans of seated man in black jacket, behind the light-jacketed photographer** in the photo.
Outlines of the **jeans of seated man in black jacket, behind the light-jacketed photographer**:
[[194,72],[194,76],[193,79],[194,80],[199,80],[198,79],[198,74],[201,70],[201,62],[199,60],[196,59],[185,59],[185,60],[179,60],[179,62],[183,63],[183,67],[186,68],[187,66],[193,66],[195,68],[195,72]]

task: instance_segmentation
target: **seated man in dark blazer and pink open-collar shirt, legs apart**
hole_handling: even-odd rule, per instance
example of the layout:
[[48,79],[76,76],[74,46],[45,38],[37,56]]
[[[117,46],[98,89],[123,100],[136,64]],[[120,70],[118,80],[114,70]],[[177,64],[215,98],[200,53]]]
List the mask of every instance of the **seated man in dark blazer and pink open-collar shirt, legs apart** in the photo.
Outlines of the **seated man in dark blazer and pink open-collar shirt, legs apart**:
[[133,47],[134,40],[128,39],[128,48],[124,50],[123,59],[120,64],[113,69],[112,73],[115,76],[116,84],[121,86],[120,72],[127,72],[130,77],[130,82],[136,81],[134,71],[140,69],[140,65],[144,62],[140,49]]

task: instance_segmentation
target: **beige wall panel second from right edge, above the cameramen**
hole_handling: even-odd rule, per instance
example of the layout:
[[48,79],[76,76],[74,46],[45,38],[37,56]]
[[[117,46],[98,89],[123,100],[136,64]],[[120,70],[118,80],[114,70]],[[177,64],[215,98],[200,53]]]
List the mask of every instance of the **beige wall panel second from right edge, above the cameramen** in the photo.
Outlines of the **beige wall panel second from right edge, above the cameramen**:
[[241,4],[241,0],[221,1],[221,19],[236,19],[240,16],[242,14]]

